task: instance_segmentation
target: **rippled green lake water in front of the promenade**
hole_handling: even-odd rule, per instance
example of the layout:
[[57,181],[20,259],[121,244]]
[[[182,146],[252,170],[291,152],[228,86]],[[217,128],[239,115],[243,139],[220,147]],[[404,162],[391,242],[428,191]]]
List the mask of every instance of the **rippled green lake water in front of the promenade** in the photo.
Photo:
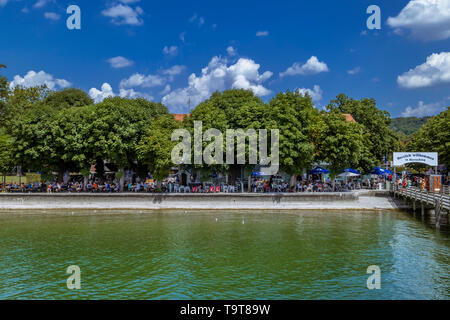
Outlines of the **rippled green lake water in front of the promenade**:
[[0,299],[450,298],[448,230],[407,213],[86,213],[0,214]]

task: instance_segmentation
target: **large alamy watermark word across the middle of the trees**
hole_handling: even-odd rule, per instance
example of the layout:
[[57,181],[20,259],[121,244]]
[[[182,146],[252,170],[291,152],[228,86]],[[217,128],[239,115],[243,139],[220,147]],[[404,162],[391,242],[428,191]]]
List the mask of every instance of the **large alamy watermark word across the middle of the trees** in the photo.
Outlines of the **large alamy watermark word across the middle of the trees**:
[[[265,172],[269,175],[278,173],[279,168],[279,142],[278,129],[270,130],[270,155],[267,148],[267,130],[259,129],[227,129],[225,134],[226,155],[224,159],[224,135],[215,128],[204,133],[202,121],[194,121],[194,147],[192,148],[191,133],[187,129],[176,129],[172,133],[172,141],[180,141],[172,149],[172,162],[175,164],[254,164],[268,166]],[[246,141],[248,140],[248,146]],[[236,148],[235,148],[236,141]],[[203,142],[211,142],[203,148]],[[192,161],[192,149],[194,161]],[[247,153],[248,151],[248,153]],[[246,162],[246,153],[248,162]],[[258,157],[259,156],[259,157]],[[236,158],[236,162],[235,162]],[[258,161],[259,158],[259,161]],[[225,160],[225,162],[224,162]]]

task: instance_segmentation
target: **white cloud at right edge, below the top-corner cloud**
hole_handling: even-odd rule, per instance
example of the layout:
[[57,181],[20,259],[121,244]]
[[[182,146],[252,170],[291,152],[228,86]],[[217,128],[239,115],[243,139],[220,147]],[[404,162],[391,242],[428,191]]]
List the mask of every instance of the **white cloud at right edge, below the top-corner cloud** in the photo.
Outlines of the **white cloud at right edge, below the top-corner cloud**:
[[450,83],[450,52],[433,53],[425,63],[397,77],[402,88],[424,88]]

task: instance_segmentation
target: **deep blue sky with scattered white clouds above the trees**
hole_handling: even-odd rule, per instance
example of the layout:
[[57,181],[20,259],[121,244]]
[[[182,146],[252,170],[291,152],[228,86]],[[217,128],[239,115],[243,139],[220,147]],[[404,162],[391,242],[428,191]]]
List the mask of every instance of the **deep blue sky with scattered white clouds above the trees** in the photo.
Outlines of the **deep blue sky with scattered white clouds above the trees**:
[[[69,30],[66,9],[81,9]],[[369,30],[368,6],[381,9]],[[268,101],[309,92],[373,97],[392,116],[450,105],[450,0],[0,0],[1,73],[11,85],[78,87],[189,112],[215,90]]]

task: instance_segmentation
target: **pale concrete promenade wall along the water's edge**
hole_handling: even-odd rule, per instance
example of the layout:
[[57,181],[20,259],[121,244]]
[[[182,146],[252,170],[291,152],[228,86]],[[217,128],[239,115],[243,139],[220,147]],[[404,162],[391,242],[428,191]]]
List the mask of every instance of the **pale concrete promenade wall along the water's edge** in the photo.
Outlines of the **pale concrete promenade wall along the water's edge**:
[[109,210],[396,210],[405,208],[386,191],[344,193],[61,193],[0,194],[0,210],[109,209]]

